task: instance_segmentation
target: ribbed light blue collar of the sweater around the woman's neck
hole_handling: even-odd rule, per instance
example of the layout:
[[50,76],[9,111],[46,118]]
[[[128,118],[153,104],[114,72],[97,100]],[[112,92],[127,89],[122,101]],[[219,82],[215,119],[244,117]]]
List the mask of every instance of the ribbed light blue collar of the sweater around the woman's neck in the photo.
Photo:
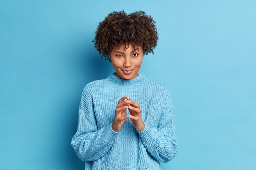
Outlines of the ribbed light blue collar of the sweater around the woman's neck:
[[134,91],[144,86],[148,82],[148,78],[139,73],[136,78],[126,80],[117,77],[116,72],[114,72],[106,78],[106,82],[121,91]]

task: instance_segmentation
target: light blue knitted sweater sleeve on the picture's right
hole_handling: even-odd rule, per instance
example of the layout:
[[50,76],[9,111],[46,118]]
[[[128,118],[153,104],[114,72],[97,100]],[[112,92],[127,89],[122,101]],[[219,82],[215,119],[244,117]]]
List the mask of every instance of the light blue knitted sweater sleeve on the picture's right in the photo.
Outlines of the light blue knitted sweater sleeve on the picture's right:
[[157,161],[169,162],[177,154],[177,140],[173,115],[173,104],[170,92],[166,89],[164,97],[163,111],[159,119],[157,128],[145,124],[144,130],[139,133],[139,137]]

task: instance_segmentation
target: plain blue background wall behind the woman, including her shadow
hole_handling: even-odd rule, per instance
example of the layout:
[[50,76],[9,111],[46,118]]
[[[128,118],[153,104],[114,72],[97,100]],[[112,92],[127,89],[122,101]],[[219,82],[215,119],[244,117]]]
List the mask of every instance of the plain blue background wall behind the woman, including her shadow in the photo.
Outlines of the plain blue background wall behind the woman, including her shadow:
[[83,87],[114,72],[92,40],[112,11],[159,33],[139,73],[166,85],[178,153],[163,170],[256,169],[256,1],[0,0],[0,169],[83,170]]

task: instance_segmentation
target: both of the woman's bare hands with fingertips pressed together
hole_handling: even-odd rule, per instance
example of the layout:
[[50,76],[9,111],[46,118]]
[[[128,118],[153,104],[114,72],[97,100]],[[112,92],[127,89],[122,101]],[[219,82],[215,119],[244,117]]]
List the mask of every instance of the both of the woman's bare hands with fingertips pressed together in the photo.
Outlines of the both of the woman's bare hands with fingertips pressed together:
[[[124,101],[127,99],[126,101]],[[130,115],[126,115],[126,109],[128,108]],[[141,132],[145,128],[145,124],[141,118],[141,110],[139,104],[132,101],[128,96],[122,97],[117,104],[115,110],[115,117],[112,123],[112,129],[115,132],[121,130],[125,120],[130,117],[132,124],[135,126],[138,132]]]

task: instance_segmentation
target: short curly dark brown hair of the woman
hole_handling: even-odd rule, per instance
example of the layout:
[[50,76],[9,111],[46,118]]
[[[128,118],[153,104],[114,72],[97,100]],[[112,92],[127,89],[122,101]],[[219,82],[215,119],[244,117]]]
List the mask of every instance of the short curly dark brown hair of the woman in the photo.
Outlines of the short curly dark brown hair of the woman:
[[146,15],[144,11],[135,11],[127,15],[124,10],[114,11],[108,14],[105,19],[99,23],[94,40],[94,47],[99,51],[101,58],[111,62],[108,56],[112,49],[118,48],[122,44],[140,45],[143,53],[150,52],[154,54],[153,49],[157,46],[158,33],[155,27],[155,21],[151,16]]

